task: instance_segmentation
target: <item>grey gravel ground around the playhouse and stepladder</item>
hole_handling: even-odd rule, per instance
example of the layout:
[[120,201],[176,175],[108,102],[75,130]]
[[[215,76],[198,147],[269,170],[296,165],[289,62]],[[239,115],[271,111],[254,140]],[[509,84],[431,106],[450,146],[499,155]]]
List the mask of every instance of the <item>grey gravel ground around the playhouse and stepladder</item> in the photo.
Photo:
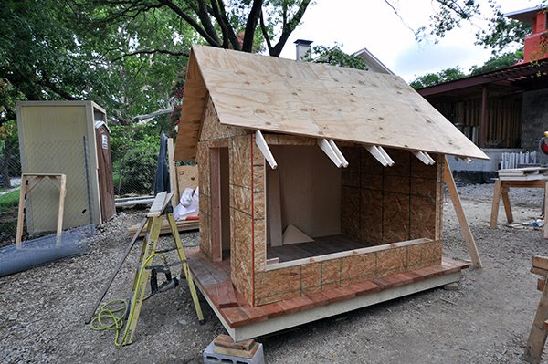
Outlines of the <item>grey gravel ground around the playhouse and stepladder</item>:
[[[548,255],[548,241],[541,231],[504,226],[502,208],[491,231],[492,185],[459,191],[484,269],[464,271],[458,291],[434,289],[260,338],[267,362],[521,363],[540,297],[531,257]],[[512,190],[516,220],[538,217],[542,199],[541,190]],[[469,259],[449,201],[444,213],[444,255]],[[0,278],[0,362],[202,362],[202,350],[224,328],[203,298],[207,322],[197,323],[186,288],[144,303],[131,346],[115,348],[112,332],[84,325],[130,240],[125,228],[140,219],[119,213],[91,239],[89,254]],[[183,239],[195,245],[198,234]],[[128,296],[137,254],[134,249],[109,299]]]

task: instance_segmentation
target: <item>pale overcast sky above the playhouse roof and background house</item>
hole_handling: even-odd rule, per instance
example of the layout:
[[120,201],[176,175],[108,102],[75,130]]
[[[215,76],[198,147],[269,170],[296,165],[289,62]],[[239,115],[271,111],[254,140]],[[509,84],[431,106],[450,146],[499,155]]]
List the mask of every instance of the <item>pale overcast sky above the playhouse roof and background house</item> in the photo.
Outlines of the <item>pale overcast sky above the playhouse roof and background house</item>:
[[[482,7],[488,9],[486,1]],[[501,11],[508,13],[532,7],[539,0],[500,0]],[[312,40],[314,45],[332,47],[335,42],[353,53],[369,49],[395,74],[412,81],[425,73],[460,66],[465,72],[474,65],[482,65],[490,58],[490,50],[475,46],[475,34],[486,23],[482,19],[449,32],[436,44],[433,39],[416,42],[412,30],[429,24],[432,14],[430,0],[392,0],[404,21],[384,0],[316,0],[302,23],[290,36],[281,57],[295,59],[296,39]],[[405,24],[404,24],[405,22]]]

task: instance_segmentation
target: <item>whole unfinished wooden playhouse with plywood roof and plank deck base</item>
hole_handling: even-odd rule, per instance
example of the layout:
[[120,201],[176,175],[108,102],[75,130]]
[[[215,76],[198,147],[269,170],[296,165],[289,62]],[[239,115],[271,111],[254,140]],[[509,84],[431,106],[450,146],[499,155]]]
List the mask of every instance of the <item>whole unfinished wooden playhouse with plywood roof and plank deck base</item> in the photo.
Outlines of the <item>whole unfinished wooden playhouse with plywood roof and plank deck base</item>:
[[458,281],[445,155],[486,159],[393,75],[194,46],[175,160],[197,161],[197,286],[236,340]]

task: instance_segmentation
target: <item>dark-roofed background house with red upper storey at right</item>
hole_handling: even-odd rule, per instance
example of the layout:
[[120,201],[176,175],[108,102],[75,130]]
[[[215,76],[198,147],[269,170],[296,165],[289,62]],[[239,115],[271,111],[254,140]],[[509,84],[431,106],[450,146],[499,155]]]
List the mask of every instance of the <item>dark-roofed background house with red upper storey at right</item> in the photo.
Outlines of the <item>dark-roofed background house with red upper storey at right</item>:
[[483,180],[499,168],[501,153],[536,151],[548,130],[546,6],[506,16],[532,25],[522,62],[417,90],[490,156],[469,165],[449,159],[453,170],[475,172]]

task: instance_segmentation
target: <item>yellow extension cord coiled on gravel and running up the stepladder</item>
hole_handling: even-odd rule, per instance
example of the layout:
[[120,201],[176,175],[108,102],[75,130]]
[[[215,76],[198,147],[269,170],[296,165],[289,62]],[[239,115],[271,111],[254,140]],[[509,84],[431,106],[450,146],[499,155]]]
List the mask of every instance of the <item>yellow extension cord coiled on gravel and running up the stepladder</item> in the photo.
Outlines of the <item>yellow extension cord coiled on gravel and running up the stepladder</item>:
[[[165,259],[165,256],[163,254],[153,254],[149,256],[144,263],[141,266],[141,269],[139,270],[139,275],[137,276],[137,282],[135,287],[140,286],[141,279],[142,279],[142,273],[146,269],[146,267],[153,261],[153,258],[155,256],[162,256],[163,262],[167,265],[167,261]],[[127,322],[132,322],[133,318],[133,312],[135,311],[135,303],[137,301],[137,294],[139,293],[138,289],[135,289],[135,292],[133,292],[132,296],[132,305],[130,307],[130,317],[128,317]],[[111,307],[114,305],[120,305],[118,307]],[[123,337],[121,338],[121,341],[118,341],[118,338],[120,338],[120,331],[123,328],[123,317],[125,317],[127,312],[127,301],[125,299],[113,299],[107,303],[105,303],[103,306],[100,307],[99,313],[96,317],[93,317],[93,319],[90,322],[90,328],[95,331],[116,331],[116,336],[114,337],[114,345],[117,348],[120,348],[123,346],[123,343],[126,339],[126,336],[128,334],[128,331],[125,331],[123,334]],[[121,314],[118,314],[121,312]]]

